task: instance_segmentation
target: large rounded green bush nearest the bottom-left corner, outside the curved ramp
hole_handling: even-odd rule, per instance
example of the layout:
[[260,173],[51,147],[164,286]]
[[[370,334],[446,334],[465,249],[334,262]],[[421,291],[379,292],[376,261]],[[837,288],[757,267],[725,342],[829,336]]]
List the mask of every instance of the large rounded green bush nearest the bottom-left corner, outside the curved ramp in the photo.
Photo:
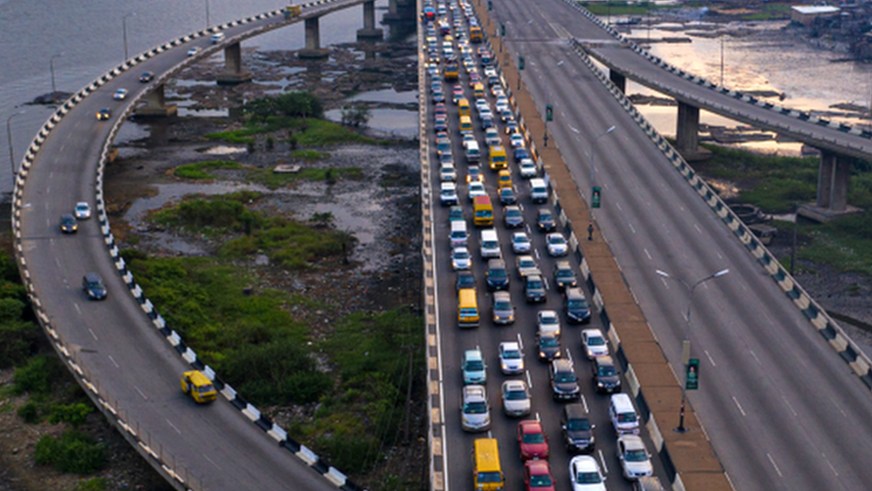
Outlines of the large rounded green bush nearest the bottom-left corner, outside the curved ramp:
[[39,438],[35,458],[38,464],[52,465],[61,472],[85,475],[105,466],[106,451],[91,437],[67,430],[60,438],[49,435]]

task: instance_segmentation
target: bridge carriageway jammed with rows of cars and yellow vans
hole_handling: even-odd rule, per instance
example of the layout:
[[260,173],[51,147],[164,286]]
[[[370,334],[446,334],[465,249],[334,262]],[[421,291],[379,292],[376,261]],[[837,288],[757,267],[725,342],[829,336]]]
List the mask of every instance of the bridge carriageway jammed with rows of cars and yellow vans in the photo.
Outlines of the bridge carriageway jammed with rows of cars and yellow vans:
[[[487,47],[472,42],[472,7],[431,5],[422,29],[450,487],[492,486],[474,478],[475,442],[491,436],[507,489],[602,489],[602,478],[629,489],[621,475],[646,472],[625,473],[622,462],[649,461],[650,451],[618,452],[608,405],[620,374],[598,321],[576,326],[591,323],[591,310],[547,182]],[[636,421],[621,430],[633,435],[629,408],[616,419]],[[524,451],[539,438],[522,432],[533,423],[547,458]]]

